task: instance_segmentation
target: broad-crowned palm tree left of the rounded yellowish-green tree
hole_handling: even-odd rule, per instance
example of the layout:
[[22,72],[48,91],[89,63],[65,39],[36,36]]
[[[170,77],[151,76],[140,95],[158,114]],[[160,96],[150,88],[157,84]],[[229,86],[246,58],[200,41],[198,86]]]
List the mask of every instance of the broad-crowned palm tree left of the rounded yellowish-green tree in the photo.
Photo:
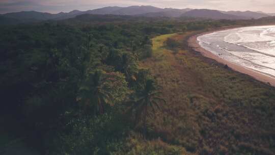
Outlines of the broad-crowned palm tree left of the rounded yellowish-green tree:
[[107,85],[110,79],[112,78],[105,76],[102,70],[96,70],[80,87],[78,100],[86,110],[92,108],[95,114],[102,114],[104,105],[112,104],[111,87]]

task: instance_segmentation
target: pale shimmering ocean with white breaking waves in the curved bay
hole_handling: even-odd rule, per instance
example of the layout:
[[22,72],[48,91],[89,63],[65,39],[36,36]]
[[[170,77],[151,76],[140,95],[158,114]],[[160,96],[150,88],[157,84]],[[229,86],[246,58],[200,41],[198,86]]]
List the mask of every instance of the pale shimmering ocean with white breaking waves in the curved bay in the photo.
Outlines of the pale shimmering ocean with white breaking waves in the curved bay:
[[197,40],[218,57],[275,77],[275,25],[218,31]]

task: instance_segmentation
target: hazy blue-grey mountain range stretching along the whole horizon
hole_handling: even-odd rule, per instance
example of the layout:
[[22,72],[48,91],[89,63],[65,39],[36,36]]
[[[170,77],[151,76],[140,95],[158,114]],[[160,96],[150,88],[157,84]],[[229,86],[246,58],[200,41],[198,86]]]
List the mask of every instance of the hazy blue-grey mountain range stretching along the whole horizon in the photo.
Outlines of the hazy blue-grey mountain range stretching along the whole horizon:
[[173,8],[157,8],[153,6],[130,6],[130,7],[104,7],[100,9],[79,11],[73,10],[68,13],[60,12],[57,14],[43,13],[37,11],[22,11],[13,12],[0,15],[0,24],[4,22],[25,22],[25,21],[41,21],[41,20],[62,20],[73,18],[82,14],[96,14],[96,15],[131,15],[131,16],[145,16],[145,17],[197,17],[197,18],[211,18],[211,19],[251,19],[261,18],[266,16],[273,16],[275,14],[268,14],[264,12],[252,11],[218,11],[209,9],[173,9]]

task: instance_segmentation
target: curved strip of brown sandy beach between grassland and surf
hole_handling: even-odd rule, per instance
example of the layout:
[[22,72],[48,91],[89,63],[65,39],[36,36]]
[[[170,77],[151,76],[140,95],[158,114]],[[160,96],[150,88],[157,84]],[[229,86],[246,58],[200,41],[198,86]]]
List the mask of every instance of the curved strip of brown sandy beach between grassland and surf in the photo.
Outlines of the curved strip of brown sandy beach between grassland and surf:
[[236,29],[236,28],[241,28],[241,27],[228,27],[228,28],[222,28],[222,29],[218,29],[218,30],[212,30],[212,31],[203,32],[200,34],[193,35],[187,39],[188,46],[191,47],[192,49],[194,49],[195,51],[199,52],[200,54],[202,54],[202,56],[204,56],[204,57],[213,59],[213,60],[217,61],[218,63],[227,65],[229,68],[231,68],[234,71],[249,75],[253,79],[256,79],[256,80],[261,81],[267,85],[271,85],[271,86],[275,87],[275,78],[274,77],[269,76],[265,73],[261,73],[260,71],[256,71],[251,68],[247,68],[247,67],[241,66],[239,64],[235,64],[231,61],[225,60],[223,58],[220,58],[220,57],[214,55],[213,53],[211,53],[211,51],[208,51],[208,50],[204,49],[203,47],[201,47],[197,40],[197,38],[199,36],[202,36],[205,34],[229,30],[229,29]]

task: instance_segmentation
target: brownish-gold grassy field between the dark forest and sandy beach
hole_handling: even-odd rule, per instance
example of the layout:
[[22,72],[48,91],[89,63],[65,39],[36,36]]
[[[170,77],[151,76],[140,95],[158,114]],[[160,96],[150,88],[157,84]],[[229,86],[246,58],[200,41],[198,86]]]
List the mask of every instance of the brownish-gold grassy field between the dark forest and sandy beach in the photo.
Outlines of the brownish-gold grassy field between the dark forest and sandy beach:
[[[168,102],[148,122],[151,137],[194,154],[274,154],[274,88],[189,49],[191,34],[153,38],[153,57],[140,64]],[[169,49],[168,38],[180,46]]]

